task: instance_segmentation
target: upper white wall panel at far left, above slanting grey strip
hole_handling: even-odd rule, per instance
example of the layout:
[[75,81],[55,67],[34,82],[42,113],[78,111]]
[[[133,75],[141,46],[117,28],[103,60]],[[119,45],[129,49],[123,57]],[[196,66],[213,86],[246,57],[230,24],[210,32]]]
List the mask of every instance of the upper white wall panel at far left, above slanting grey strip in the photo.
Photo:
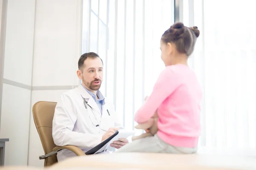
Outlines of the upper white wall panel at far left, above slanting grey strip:
[[31,85],[35,0],[8,0],[3,78]]

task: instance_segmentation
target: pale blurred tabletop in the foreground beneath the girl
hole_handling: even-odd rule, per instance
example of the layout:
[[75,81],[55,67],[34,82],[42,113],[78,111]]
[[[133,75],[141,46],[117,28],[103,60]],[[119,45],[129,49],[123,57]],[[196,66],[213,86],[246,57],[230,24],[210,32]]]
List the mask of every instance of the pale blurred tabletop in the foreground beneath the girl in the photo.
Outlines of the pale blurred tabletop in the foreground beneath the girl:
[[45,170],[256,170],[248,156],[168,153],[112,153],[75,156]]

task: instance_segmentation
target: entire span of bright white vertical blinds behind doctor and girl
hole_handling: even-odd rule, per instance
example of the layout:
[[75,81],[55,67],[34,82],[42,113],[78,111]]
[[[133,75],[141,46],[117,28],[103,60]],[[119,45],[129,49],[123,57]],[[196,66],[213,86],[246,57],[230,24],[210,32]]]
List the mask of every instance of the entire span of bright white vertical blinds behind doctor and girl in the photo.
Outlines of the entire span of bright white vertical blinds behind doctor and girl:
[[[179,20],[201,31],[189,59],[204,90],[199,145],[256,148],[253,1],[179,1]],[[83,11],[82,53],[102,57],[101,91],[134,129],[134,113],[164,68],[160,38],[174,23],[174,0],[84,0]]]

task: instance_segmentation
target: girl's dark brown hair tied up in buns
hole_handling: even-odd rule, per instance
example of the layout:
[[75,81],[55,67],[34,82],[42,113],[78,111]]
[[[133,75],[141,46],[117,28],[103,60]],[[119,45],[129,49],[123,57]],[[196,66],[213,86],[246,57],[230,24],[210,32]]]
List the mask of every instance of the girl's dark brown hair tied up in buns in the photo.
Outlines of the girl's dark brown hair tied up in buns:
[[194,51],[199,34],[196,26],[188,28],[183,23],[175,23],[163,33],[161,40],[166,43],[173,42],[178,52],[189,57]]

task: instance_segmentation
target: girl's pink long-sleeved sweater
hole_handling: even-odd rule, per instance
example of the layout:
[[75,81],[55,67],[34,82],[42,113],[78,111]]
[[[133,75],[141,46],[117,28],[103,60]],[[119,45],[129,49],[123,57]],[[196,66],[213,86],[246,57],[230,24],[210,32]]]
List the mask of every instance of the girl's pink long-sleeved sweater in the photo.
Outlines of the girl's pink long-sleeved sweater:
[[196,147],[201,133],[202,91],[188,66],[167,66],[157,79],[152,94],[135,114],[135,121],[148,121],[157,110],[157,135],[177,147]]

